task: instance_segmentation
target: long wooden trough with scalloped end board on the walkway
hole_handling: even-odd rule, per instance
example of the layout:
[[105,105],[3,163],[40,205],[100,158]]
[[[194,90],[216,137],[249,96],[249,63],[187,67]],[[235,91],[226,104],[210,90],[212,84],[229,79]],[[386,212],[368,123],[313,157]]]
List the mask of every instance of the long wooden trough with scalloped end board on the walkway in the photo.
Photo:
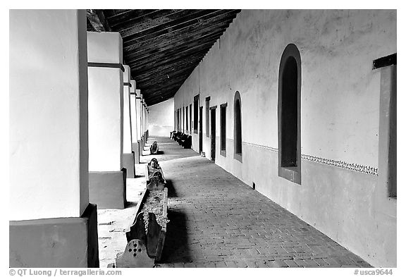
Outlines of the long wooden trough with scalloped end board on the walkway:
[[161,259],[168,223],[168,188],[161,167],[152,159],[146,167],[147,187],[135,208],[135,221],[125,232],[127,246],[116,267],[153,267]]

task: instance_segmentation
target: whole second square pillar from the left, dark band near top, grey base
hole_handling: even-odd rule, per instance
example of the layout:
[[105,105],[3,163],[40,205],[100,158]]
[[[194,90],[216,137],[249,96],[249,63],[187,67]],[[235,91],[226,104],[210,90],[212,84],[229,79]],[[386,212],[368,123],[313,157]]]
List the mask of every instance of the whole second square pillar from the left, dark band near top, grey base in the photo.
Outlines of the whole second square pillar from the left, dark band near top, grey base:
[[123,40],[118,32],[87,32],[89,197],[101,209],[123,209]]

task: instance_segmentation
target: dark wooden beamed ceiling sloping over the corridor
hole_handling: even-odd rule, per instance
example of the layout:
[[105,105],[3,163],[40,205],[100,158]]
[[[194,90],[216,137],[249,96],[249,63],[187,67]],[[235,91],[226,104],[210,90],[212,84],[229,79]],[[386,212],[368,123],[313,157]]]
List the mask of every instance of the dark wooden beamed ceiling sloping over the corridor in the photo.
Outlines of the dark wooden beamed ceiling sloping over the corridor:
[[120,32],[123,59],[147,105],[165,101],[240,10],[87,10],[87,30]]

